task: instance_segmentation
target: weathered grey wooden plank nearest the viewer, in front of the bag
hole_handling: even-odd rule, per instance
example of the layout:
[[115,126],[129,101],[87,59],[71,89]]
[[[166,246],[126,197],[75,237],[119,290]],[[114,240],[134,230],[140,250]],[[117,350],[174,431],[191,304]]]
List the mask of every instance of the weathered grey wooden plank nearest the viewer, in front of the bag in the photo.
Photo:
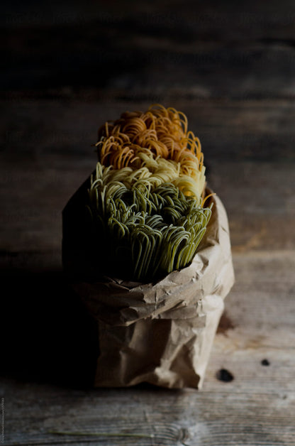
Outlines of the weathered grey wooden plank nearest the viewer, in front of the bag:
[[[8,431],[6,444],[294,445],[294,428],[290,428],[294,395],[237,394],[230,384],[224,386],[228,390],[219,393],[135,388],[69,394],[52,386],[9,383],[6,388],[18,391],[21,416],[7,420],[7,429],[18,425],[18,433],[9,435]],[[5,400],[7,410],[13,407],[9,397],[11,393]]]

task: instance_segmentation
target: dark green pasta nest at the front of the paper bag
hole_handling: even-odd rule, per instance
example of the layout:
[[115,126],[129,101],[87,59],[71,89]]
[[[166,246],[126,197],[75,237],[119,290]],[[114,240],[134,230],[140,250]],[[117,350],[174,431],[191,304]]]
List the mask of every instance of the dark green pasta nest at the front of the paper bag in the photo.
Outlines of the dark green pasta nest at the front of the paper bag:
[[104,273],[142,282],[187,266],[211,216],[211,207],[172,183],[124,181],[123,172],[101,165],[91,177],[88,210]]

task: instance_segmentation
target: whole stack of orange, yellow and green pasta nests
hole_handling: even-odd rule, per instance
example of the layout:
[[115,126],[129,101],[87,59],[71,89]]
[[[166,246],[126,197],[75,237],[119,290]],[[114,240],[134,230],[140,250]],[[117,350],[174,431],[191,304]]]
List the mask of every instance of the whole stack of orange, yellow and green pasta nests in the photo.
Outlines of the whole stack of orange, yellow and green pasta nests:
[[159,104],[123,113],[99,129],[96,148],[88,209],[103,272],[152,281],[187,266],[211,216],[187,117]]

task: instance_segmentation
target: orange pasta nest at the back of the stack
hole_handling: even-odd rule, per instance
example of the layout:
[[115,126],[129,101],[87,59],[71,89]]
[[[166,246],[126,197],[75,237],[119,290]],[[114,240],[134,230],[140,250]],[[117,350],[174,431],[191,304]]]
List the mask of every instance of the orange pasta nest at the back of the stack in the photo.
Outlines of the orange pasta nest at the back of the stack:
[[179,163],[179,177],[190,177],[201,196],[205,168],[199,138],[187,131],[187,116],[155,104],[147,112],[125,112],[99,129],[96,143],[99,162],[115,169],[145,165],[143,155]]

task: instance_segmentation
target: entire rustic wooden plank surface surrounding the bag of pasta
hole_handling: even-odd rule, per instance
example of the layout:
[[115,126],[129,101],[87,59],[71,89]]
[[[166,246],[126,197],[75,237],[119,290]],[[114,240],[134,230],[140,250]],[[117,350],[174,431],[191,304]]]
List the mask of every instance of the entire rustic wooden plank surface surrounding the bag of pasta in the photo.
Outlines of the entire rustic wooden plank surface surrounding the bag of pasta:
[[[294,1],[40,3],[0,16],[1,440],[295,445]],[[201,391],[91,389],[95,326],[62,276],[61,212],[98,127],[153,102],[201,139],[236,283]]]

